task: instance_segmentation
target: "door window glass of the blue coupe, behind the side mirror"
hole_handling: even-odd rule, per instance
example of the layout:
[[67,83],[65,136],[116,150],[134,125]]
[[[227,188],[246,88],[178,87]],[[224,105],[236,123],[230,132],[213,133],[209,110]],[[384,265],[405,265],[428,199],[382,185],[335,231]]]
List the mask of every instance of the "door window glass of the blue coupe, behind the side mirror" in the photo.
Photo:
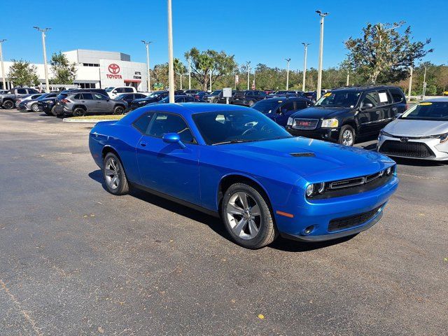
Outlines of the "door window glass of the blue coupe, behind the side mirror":
[[167,133],[179,134],[181,141],[186,143],[193,143],[194,141],[190,128],[180,116],[169,113],[157,113],[147,134],[161,138],[163,134]]

